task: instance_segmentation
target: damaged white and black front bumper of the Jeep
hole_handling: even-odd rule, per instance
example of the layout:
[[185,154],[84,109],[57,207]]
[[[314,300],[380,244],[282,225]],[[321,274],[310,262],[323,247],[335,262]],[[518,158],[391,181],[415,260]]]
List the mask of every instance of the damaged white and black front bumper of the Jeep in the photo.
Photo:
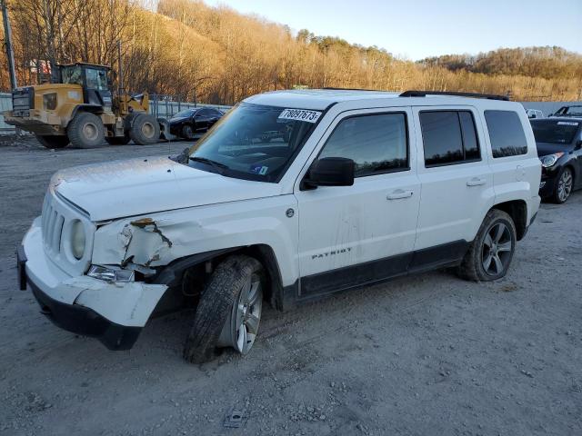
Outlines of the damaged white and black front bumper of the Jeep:
[[95,337],[110,350],[133,346],[167,289],[164,284],[68,275],[46,256],[39,218],[25,235],[17,263],[21,288],[23,283],[31,287],[41,312],[57,326]]

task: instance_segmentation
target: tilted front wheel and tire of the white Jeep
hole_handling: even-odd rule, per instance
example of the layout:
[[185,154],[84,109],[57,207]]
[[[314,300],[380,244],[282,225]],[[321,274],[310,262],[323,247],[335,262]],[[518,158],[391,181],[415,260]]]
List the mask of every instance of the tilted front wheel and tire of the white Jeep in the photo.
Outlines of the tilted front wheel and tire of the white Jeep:
[[[244,336],[247,338],[246,335],[248,334],[251,342],[246,342],[246,345],[250,346],[242,352],[240,349],[237,350],[243,354],[250,351],[255,342],[260,322],[262,289],[265,285],[264,276],[261,263],[246,255],[228,257],[216,267],[215,272],[206,283],[204,292],[202,292],[200,302],[198,302],[196,308],[192,329],[186,339],[184,347],[186,361],[204,363],[213,359],[218,347],[235,345],[234,348],[236,349],[236,344],[232,342],[233,338],[228,334],[230,327],[234,323],[233,320],[236,320],[236,316],[233,315],[238,313],[239,302],[242,302],[241,296],[245,294],[246,286],[248,285],[252,289],[254,280],[257,280],[259,283],[257,291],[259,298],[253,305],[248,305],[246,312],[246,314],[251,313],[248,317],[248,320],[250,320],[253,318],[252,312],[256,311],[256,306],[258,306],[258,318],[255,327],[253,327],[254,334],[250,338],[250,327],[242,324],[246,329]],[[246,316],[244,320],[246,322]],[[239,329],[239,332],[241,329]]]

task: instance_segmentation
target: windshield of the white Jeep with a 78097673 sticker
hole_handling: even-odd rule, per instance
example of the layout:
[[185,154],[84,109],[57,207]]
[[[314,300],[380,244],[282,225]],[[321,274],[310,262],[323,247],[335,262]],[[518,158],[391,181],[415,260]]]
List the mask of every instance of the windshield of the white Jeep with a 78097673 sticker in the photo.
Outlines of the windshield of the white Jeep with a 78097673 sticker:
[[313,131],[321,112],[239,104],[190,151],[189,165],[276,183]]

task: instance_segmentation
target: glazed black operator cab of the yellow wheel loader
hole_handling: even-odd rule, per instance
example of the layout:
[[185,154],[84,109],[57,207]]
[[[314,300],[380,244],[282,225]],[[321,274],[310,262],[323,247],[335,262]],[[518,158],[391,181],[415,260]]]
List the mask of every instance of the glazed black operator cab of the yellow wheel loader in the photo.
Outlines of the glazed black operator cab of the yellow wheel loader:
[[107,76],[109,68],[97,64],[59,65],[60,83],[80,84],[83,88],[85,104],[102,106],[105,111],[111,111],[111,91]]

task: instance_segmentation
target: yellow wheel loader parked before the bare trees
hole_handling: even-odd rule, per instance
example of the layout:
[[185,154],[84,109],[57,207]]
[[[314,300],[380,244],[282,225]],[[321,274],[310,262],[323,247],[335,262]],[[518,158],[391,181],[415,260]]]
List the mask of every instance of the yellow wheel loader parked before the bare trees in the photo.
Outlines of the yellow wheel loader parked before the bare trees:
[[[5,123],[35,134],[47,148],[73,144],[79,148],[104,143],[154,144],[160,123],[148,114],[146,93],[112,95],[107,83],[109,67],[97,64],[57,66],[54,84],[16,88],[12,111]],[[164,124],[162,124],[162,127]]]

